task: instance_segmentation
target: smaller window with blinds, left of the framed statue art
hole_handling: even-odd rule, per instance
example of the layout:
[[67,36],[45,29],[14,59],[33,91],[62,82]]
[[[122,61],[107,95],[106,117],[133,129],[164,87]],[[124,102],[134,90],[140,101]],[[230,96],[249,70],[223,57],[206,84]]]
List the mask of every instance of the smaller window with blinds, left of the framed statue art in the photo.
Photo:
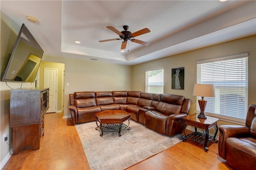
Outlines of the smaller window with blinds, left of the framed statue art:
[[146,70],[146,92],[164,93],[164,68]]

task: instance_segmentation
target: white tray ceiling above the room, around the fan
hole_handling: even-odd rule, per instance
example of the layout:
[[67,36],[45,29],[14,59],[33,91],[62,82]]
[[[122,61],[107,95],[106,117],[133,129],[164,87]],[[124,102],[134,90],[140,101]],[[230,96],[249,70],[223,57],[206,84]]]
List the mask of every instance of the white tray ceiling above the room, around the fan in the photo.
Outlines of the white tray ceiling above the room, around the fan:
[[[45,55],[98,59],[98,61],[135,65],[177,53],[206,47],[256,34],[256,1],[165,0],[1,0],[1,18],[18,34],[22,23],[30,30]],[[31,15],[37,23],[26,20]],[[122,40],[106,28],[120,32],[143,28],[150,33],[128,41],[120,52]],[[80,41],[80,44],[74,43]]]

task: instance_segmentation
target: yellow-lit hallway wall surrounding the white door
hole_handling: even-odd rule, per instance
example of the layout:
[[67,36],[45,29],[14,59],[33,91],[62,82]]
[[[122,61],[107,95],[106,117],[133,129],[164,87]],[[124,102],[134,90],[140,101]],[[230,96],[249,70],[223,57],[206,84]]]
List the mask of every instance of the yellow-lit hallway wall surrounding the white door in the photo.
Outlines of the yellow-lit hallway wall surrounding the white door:
[[46,62],[41,61],[39,67],[39,85],[38,87],[44,87],[44,68],[56,68],[58,69],[58,80],[57,80],[57,101],[56,101],[56,112],[62,111],[61,100],[62,100],[62,70],[65,70],[64,63]]

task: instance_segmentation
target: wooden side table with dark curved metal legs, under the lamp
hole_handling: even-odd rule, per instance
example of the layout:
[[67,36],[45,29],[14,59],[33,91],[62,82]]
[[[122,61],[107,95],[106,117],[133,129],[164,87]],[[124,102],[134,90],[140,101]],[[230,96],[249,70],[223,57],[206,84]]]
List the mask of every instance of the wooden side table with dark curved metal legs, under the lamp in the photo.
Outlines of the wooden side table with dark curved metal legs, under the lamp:
[[[196,142],[199,142],[201,144],[204,144],[204,150],[207,152],[209,149],[207,147],[207,144],[209,142],[211,142],[212,140],[217,143],[218,140],[215,139],[217,132],[218,132],[218,125],[217,122],[219,119],[213,118],[213,117],[208,117],[207,119],[201,119],[197,117],[198,114],[192,114],[192,115],[188,115],[185,116],[184,119],[184,127],[183,127],[183,131],[185,134],[185,138],[184,138],[184,142],[186,142],[186,139],[189,138],[191,140],[194,140]],[[187,127],[187,125],[193,126],[195,127],[195,132],[186,135],[185,133],[185,129]],[[209,136],[209,130],[211,128],[215,128],[215,134],[214,136]],[[205,134],[198,132],[197,128],[202,128],[203,130],[205,130]]]

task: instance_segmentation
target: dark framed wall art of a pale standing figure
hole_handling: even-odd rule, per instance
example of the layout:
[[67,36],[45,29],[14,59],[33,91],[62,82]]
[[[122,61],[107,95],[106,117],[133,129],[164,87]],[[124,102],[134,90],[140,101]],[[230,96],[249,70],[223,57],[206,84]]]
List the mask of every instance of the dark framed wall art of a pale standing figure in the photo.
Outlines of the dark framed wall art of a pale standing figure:
[[172,89],[184,90],[185,67],[172,69]]

